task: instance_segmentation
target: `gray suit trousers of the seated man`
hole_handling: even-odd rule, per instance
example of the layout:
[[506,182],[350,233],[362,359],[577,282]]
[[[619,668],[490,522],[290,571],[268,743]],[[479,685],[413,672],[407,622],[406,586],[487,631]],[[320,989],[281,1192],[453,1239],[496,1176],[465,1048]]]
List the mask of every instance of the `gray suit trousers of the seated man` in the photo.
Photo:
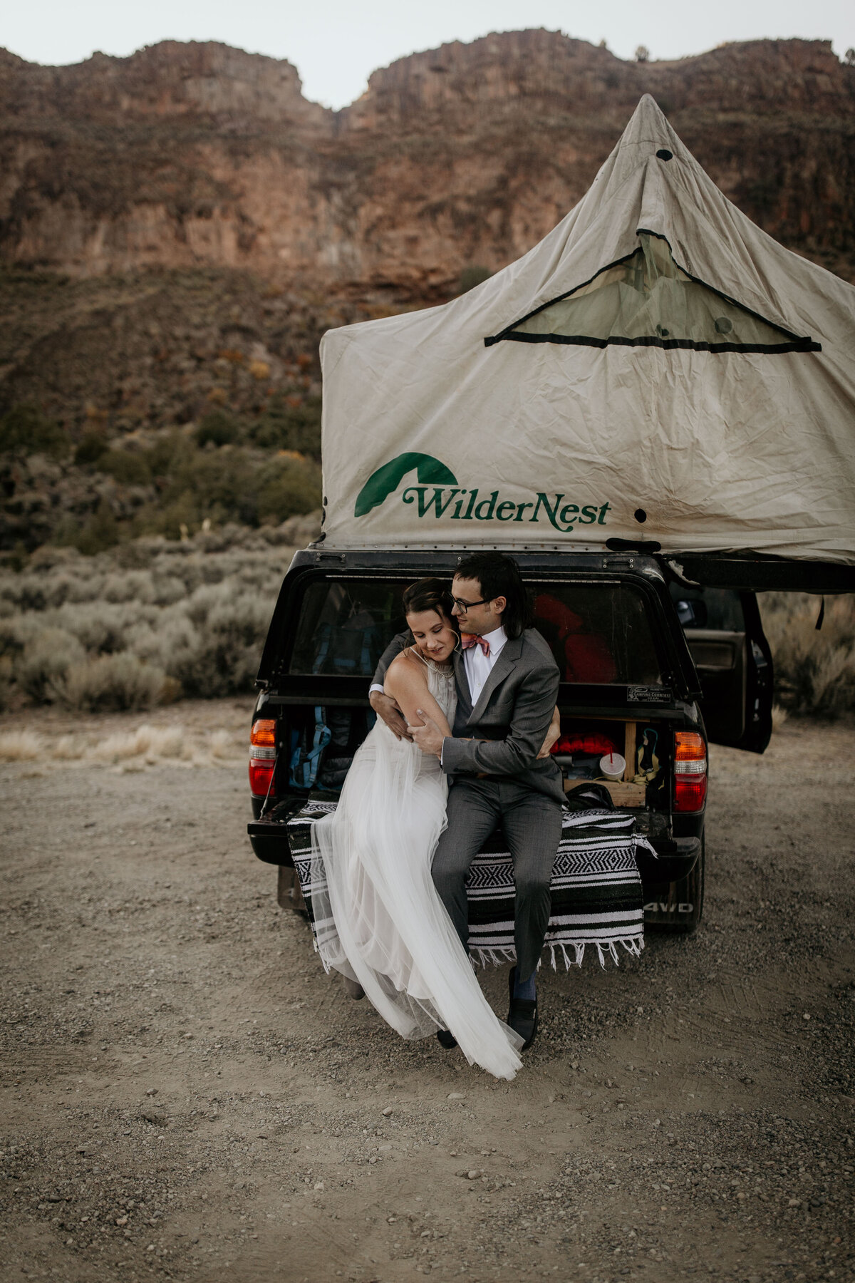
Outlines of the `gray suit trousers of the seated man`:
[[513,779],[458,776],[449,789],[447,817],[449,826],[433,856],[433,884],[464,948],[469,939],[469,865],[495,828],[501,826],[505,834],[517,884],[517,974],[527,980],[540,960],[549,925],[549,884],[561,839],[561,807]]

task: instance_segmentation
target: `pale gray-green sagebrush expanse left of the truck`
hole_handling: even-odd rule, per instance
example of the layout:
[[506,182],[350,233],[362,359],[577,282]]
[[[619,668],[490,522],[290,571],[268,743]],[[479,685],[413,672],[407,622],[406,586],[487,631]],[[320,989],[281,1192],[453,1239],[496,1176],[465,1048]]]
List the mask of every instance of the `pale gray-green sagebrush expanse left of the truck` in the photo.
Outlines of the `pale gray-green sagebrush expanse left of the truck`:
[[253,690],[294,547],[317,531],[309,517],[96,557],[37,550],[0,574],[0,707],[142,709]]

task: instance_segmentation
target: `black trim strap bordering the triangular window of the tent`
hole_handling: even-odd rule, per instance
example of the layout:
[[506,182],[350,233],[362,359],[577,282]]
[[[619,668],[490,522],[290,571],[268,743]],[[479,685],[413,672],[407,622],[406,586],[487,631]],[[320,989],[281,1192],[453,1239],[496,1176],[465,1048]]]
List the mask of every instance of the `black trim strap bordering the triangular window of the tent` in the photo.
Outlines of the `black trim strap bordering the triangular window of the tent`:
[[760,352],[760,353],[778,354],[784,352],[823,350],[822,344],[814,343],[810,335],[800,337],[792,330],[784,330],[783,326],[777,325],[777,322],[774,321],[769,321],[768,317],[764,317],[759,312],[755,312],[754,308],[746,307],[745,303],[741,303],[738,299],[732,298],[723,290],[717,290],[714,285],[709,285],[706,281],[702,281],[700,276],[695,276],[692,272],[688,272],[682,263],[677,262],[677,259],[674,258],[674,251],[670,246],[670,241],[668,240],[667,236],[663,236],[661,232],[650,231],[649,227],[638,227],[636,230],[636,235],[655,236],[656,240],[664,241],[665,245],[668,245],[670,257],[674,259],[676,267],[678,267],[679,271],[683,272],[683,275],[687,276],[690,281],[693,281],[696,285],[702,285],[704,289],[710,290],[713,294],[717,294],[719,299],[724,299],[726,303],[731,303],[733,307],[741,308],[741,310],[747,313],[747,316],[754,317],[756,321],[761,321],[763,325],[768,325],[773,330],[778,330],[779,334],[786,335],[784,341],[779,344],[777,343],[776,344],[759,344],[759,343],[713,344],[713,343],[693,343],[691,339],[660,339],[659,336],[654,337],[652,335],[645,335],[643,337],[640,339],[624,339],[620,336],[613,336],[609,339],[594,339],[588,335],[514,332],[518,325],[523,325],[526,321],[531,321],[532,317],[536,317],[540,312],[545,312],[546,308],[551,308],[555,303],[563,303],[564,299],[569,299],[574,294],[578,294],[579,290],[583,290],[587,285],[591,285],[594,281],[596,281],[597,276],[602,276],[604,272],[609,272],[611,271],[611,268],[619,267],[622,263],[628,263],[629,259],[638,253],[637,249],[633,249],[629,254],[624,254],[622,258],[615,258],[613,263],[606,263],[605,267],[599,268],[599,271],[596,271],[594,276],[588,277],[587,281],[581,281],[579,285],[574,285],[572,290],[565,290],[564,294],[556,294],[554,299],[549,299],[546,303],[541,303],[540,307],[535,308],[532,312],[527,312],[524,317],[518,317],[517,321],[511,321],[511,323],[509,326],[505,326],[504,330],[500,330],[499,334],[490,335],[488,337],[485,339],[485,348],[492,348],[495,343],[513,341],[513,343],[558,343],[558,344],[564,344],[565,346],[574,346],[574,348],[610,348],[610,346],[683,348],[690,352],[713,352],[713,353]]

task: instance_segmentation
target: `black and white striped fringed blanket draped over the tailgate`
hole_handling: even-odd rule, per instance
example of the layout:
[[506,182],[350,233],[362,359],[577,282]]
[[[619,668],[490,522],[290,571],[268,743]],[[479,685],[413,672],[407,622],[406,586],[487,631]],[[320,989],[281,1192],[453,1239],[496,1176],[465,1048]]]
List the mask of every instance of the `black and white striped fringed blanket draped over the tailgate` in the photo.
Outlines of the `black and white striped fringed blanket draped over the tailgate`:
[[[288,820],[288,844],[313,931],[313,892],[324,878],[311,854],[311,825],[336,810],[335,802],[308,802]],[[556,960],[582,965],[586,948],[600,964],[614,962],[620,948],[638,956],[643,948],[643,898],[636,847],[649,843],[635,831],[626,811],[564,810],[561,840],[552,869],[552,906],[544,949]],[[467,880],[469,952],[482,966],[515,960],[514,869],[497,831],[476,856]]]

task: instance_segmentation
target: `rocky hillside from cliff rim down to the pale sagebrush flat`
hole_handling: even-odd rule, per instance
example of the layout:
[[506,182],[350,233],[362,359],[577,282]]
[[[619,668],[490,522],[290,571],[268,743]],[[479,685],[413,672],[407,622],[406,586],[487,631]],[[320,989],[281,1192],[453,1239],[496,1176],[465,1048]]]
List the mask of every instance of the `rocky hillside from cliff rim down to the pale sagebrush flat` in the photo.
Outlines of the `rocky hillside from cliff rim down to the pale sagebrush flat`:
[[511,32],[338,113],[223,45],[0,51],[0,552],[313,507],[320,334],[523,254],[643,92],[761,227],[855,280],[855,67],[823,42],[642,64]]

